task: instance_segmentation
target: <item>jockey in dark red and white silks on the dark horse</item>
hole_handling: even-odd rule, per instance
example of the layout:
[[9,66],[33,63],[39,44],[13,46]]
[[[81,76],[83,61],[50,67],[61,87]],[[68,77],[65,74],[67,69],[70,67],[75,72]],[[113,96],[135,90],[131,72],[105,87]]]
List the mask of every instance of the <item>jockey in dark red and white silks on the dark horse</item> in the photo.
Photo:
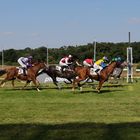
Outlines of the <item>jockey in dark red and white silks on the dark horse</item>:
[[62,72],[64,68],[68,68],[69,65],[71,65],[73,62],[73,58],[72,55],[68,55],[66,57],[61,58],[61,60],[59,61],[59,65],[62,68]]

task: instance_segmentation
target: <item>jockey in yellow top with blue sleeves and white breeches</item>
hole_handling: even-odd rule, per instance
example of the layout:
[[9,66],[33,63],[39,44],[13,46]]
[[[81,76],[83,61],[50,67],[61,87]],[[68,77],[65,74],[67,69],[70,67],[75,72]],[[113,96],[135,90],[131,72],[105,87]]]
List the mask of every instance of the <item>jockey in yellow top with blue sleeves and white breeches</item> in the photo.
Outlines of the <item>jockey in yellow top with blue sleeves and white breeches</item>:
[[107,66],[108,58],[104,56],[103,58],[97,60],[94,63],[95,72],[100,72],[103,68]]

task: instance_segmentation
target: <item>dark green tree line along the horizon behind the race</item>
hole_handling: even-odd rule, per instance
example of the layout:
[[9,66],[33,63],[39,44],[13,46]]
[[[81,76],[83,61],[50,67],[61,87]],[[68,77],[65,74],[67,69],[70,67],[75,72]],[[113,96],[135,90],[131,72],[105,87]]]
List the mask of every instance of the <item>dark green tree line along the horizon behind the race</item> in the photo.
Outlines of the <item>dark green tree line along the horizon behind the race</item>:
[[[140,42],[132,42],[130,45],[126,42],[112,43],[112,42],[96,42],[96,60],[103,56],[109,59],[120,56],[124,60],[127,59],[127,47],[133,49],[133,62],[140,62]],[[48,52],[47,52],[48,51]],[[46,48],[41,46],[35,49],[27,47],[25,49],[7,49],[3,50],[3,58],[5,65],[17,65],[17,60],[21,56],[32,55],[35,60],[47,61],[49,64],[57,64],[59,60],[71,54],[82,62],[85,58],[94,56],[94,43],[79,46],[62,46],[60,48]],[[47,57],[48,54],[48,57]],[[0,63],[2,63],[2,51],[0,53]]]

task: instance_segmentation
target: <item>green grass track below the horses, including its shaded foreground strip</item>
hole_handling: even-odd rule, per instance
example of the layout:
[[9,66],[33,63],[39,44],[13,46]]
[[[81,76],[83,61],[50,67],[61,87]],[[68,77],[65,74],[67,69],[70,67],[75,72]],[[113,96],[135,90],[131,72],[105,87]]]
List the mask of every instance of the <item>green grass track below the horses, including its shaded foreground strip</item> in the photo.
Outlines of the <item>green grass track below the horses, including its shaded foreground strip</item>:
[[102,94],[1,88],[0,140],[139,140],[139,83],[106,86]]

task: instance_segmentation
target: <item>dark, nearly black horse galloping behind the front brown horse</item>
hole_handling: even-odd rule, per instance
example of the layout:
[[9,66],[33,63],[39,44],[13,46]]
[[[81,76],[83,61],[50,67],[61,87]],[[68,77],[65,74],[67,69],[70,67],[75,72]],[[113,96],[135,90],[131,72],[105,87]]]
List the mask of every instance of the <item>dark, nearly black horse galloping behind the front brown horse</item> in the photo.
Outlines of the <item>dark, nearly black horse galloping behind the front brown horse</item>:
[[[61,89],[61,86],[59,82],[57,81],[57,77],[65,78],[69,81],[69,83],[72,83],[72,79],[76,76],[75,72],[73,70],[73,65],[69,66],[68,68],[65,68],[65,71],[62,72],[61,67],[58,65],[49,65],[42,71],[38,73],[38,75],[46,73],[48,76],[50,76],[53,80],[54,85],[57,86],[58,89]],[[65,82],[67,83],[67,82]]]

